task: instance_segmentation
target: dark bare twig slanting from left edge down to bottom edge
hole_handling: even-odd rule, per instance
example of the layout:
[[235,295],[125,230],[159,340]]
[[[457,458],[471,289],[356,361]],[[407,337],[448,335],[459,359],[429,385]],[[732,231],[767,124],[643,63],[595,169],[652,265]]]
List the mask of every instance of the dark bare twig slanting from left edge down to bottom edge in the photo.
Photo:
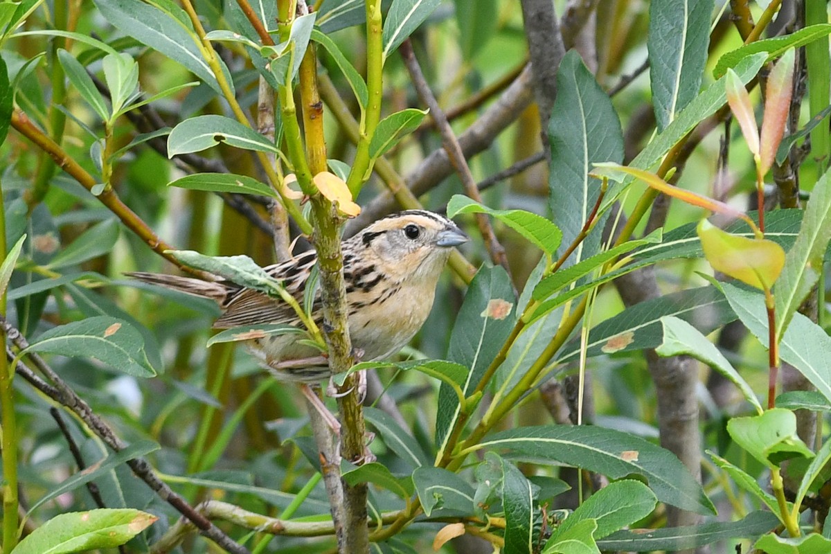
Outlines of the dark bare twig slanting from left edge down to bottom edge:
[[[0,316],[0,327],[6,331],[6,334],[9,340],[12,341],[12,344],[20,350],[25,350],[29,346],[26,337],[22,336],[20,331],[6,321],[5,317]],[[120,452],[120,450],[125,449],[127,445],[124,441],[116,435],[109,425],[104,423],[103,419],[92,411],[90,405],[86,404],[86,401],[76,395],[76,392],[72,390],[71,387],[66,384],[66,381],[62,380],[54,370],[52,370],[52,368],[40,355],[30,353],[27,357],[32,361],[32,364],[37,367],[37,370],[39,370],[43,375],[46,375],[47,379],[51,380],[52,385],[54,385],[54,388],[38,387],[38,390],[41,390],[57,403],[71,409],[72,412],[81,418],[81,420],[111,449],[116,452]],[[202,532],[205,537],[209,537],[212,541],[216,542],[220,547],[223,547],[228,552],[233,552],[234,554],[250,554],[247,548],[242,547],[235,542],[231,537],[222,532],[219,527],[216,527],[206,517],[197,512],[193,506],[184,500],[184,498],[175,493],[173,489],[167,485],[167,483],[164,483],[159,478],[150,466],[150,463],[147,463],[144,458],[131,459],[127,462],[127,465],[130,466],[130,469],[132,469],[136,477],[147,483],[147,486],[159,495],[159,498],[165,500],[167,503],[170,503],[170,505],[175,507],[179,513],[184,515],[184,517],[187,517],[191,522],[194,522],[194,525],[199,528],[199,531]]]

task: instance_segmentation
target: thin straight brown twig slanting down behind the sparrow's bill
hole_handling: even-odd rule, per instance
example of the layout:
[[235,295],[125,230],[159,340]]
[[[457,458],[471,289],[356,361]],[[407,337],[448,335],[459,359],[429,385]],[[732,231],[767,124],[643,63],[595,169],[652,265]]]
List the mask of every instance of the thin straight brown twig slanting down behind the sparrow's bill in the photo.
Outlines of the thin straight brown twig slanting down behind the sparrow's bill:
[[[450,162],[454,165],[456,173],[459,174],[462,185],[465,187],[465,192],[471,199],[481,203],[482,195],[479,194],[479,189],[476,188],[476,182],[473,179],[473,174],[470,173],[470,167],[465,159],[465,154],[462,152],[459,141],[456,140],[456,136],[450,128],[450,123],[445,117],[445,112],[441,110],[439,101],[433,96],[433,91],[430,91],[430,85],[425,80],[424,73],[421,72],[421,66],[418,60],[416,60],[416,54],[413,52],[410,40],[407,39],[404,41],[398,51],[404,59],[404,65],[407,67],[407,71],[410,72],[413,85],[416,86],[416,91],[421,101],[430,108],[430,114],[433,115],[435,125],[441,133],[441,142],[445,145],[445,151],[450,156]],[[488,248],[491,261],[494,264],[504,267],[505,271],[510,275],[508,257],[505,255],[505,249],[499,244],[499,240],[496,238],[496,233],[494,233],[494,228],[491,226],[488,216],[484,213],[477,213],[476,223],[479,225],[479,233],[482,233],[482,238],[484,238],[485,247]]]

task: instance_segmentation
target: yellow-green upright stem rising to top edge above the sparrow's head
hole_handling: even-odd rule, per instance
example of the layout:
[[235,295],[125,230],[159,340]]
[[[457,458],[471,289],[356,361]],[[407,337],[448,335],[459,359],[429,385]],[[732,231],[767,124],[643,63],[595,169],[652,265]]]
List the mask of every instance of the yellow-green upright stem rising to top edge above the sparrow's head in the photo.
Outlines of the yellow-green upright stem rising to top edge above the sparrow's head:
[[369,92],[366,108],[361,111],[361,124],[358,126],[358,145],[352,171],[349,172],[347,184],[356,198],[361,187],[372,170],[369,145],[378,120],[381,119],[381,100],[383,96],[381,72],[384,67],[383,42],[381,40],[381,0],[366,0],[366,90]]

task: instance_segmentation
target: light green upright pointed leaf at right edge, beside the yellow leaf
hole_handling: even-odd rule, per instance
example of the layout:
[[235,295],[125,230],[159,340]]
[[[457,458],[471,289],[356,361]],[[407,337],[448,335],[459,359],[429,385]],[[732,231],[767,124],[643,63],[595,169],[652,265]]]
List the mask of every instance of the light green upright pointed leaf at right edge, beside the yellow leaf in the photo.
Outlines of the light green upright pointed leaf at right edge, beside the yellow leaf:
[[819,281],[823,257],[831,240],[831,177],[826,172],[814,185],[794,247],[774,287],[776,338],[787,331],[791,317]]

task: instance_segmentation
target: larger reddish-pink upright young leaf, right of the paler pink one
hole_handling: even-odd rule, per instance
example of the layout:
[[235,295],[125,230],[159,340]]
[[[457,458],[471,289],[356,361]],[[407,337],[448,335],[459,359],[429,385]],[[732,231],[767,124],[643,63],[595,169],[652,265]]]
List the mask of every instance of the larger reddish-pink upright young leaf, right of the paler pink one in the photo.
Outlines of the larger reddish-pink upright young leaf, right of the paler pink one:
[[774,163],[776,150],[782,142],[790,113],[790,97],[794,86],[794,49],[790,48],[776,62],[765,88],[765,116],[759,145],[759,171],[766,174]]

